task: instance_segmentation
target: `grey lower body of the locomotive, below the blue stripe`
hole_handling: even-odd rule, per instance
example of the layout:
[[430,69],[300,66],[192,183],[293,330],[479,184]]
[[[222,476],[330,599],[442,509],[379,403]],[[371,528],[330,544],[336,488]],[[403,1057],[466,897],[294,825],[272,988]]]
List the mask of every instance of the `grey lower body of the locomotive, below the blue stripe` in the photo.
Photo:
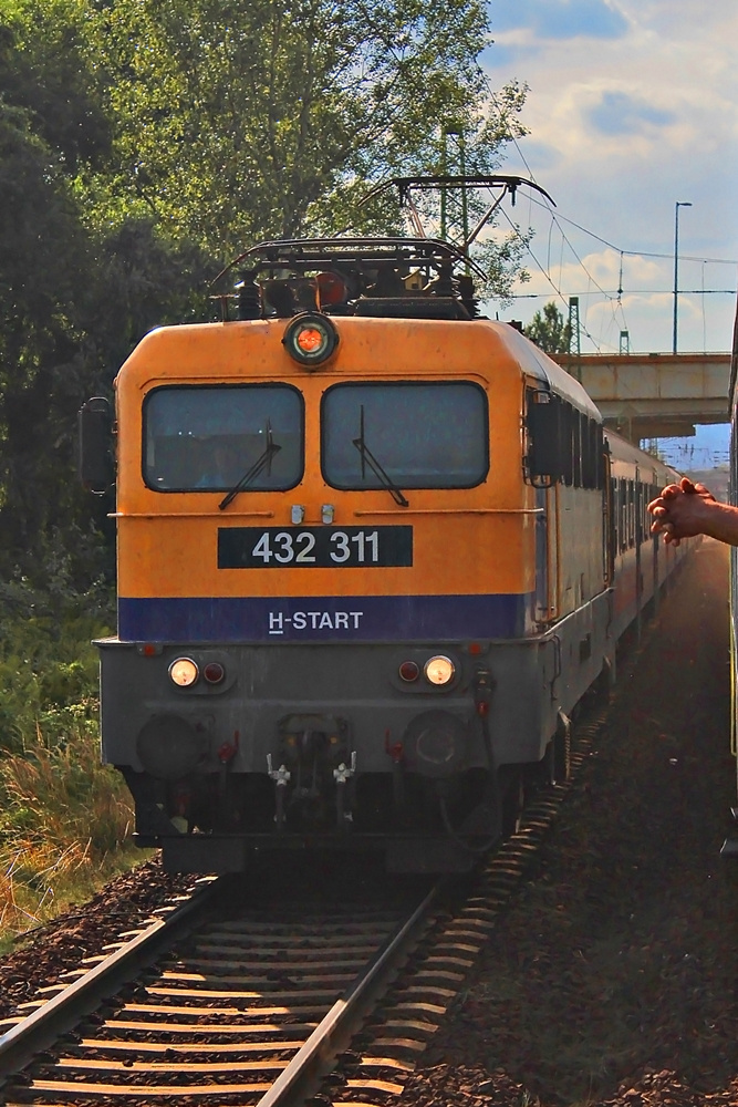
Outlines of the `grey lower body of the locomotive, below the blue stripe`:
[[[545,633],[474,648],[107,640],[103,756],[168,868],[239,871],[254,849],[315,841],[462,871],[498,830],[498,775],[541,762],[614,656],[610,623],[602,593]],[[423,675],[434,655],[451,662],[446,685]],[[184,687],[178,659],[198,674]]]

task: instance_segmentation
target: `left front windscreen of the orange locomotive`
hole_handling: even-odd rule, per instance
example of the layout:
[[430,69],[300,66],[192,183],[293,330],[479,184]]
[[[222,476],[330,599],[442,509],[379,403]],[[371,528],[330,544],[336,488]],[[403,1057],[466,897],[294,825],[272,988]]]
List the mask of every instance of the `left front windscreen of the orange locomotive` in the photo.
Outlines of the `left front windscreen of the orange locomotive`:
[[144,401],[143,474],[157,492],[293,488],[304,466],[302,394],[288,384],[165,385]]

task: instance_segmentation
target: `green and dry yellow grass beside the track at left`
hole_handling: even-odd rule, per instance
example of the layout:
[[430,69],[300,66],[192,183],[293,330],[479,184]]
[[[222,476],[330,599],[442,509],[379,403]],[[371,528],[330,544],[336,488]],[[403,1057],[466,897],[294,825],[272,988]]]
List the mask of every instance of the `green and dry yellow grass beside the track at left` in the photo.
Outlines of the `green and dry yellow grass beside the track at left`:
[[[52,918],[141,858],[127,841],[127,789],[100,757],[90,640],[106,628],[80,610],[82,597],[64,611],[69,580],[59,581],[46,593],[15,581],[0,608],[0,935]],[[91,608],[98,600],[91,593]]]

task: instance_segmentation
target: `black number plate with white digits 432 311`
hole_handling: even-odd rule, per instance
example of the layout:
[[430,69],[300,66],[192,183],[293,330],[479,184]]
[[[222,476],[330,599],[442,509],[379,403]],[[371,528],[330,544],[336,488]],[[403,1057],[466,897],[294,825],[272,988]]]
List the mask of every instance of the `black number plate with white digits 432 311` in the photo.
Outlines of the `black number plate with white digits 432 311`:
[[220,527],[219,569],[413,565],[412,527]]

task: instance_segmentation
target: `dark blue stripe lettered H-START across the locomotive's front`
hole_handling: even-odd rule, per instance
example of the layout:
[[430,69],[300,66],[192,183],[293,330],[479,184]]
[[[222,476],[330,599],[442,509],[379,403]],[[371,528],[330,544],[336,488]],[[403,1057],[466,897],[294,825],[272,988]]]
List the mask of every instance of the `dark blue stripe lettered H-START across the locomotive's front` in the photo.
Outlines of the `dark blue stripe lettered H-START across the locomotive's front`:
[[519,638],[530,597],[118,599],[125,642],[378,642]]

